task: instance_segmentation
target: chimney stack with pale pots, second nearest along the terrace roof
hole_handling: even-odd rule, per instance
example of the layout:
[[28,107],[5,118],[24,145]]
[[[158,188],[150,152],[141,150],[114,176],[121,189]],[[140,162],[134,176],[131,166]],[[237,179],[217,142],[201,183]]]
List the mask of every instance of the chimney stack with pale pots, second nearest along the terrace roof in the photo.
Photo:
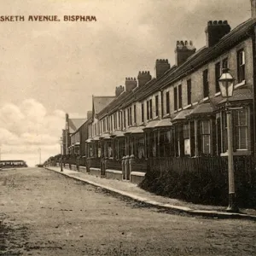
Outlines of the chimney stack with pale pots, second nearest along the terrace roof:
[[176,49],[175,49],[175,61],[176,66],[180,66],[183,62],[187,61],[187,59],[195,54],[195,46],[192,41],[177,41]]

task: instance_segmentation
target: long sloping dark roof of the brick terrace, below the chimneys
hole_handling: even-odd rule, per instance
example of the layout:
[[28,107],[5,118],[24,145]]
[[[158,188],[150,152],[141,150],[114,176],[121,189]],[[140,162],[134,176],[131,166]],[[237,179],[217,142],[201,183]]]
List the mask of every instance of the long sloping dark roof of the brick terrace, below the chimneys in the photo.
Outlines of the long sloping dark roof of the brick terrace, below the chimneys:
[[113,102],[109,102],[109,104],[107,104],[108,106],[106,105],[104,108],[101,108],[101,111],[97,110],[96,113],[101,112],[101,115],[103,116],[107,113],[115,112],[120,107],[127,107],[131,105],[132,102],[142,101],[155,91],[165,88],[177,79],[183,78],[188,73],[194,72],[197,68],[209,61],[212,61],[219,55],[224,54],[225,51],[234,47],[234,45],[238,44],[242,39],[248,38],[250,36],[249,32],[253,30],[255,25],[255,18],[246,20],[221,38],[218,44],[209,48],[206,46],[202,47],[197,50],[194,55],[191,55],[181,66],[172,66],[163,76],[160,77],[160,79],[152,79],[148,81],[148,83],[137,87],[129,93],[122,93],[113,100]]

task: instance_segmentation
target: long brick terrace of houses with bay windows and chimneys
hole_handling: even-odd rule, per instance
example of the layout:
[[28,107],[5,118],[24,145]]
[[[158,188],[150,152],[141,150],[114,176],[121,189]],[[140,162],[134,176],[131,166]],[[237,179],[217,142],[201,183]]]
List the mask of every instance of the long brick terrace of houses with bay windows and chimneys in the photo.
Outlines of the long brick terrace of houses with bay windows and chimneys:
[[90,166],[102,168],[107,177],[130,179],[132,172],[146,170],[149,158],[226,156],[226,100],[218,84],[224,67],[235,79],[230,102],[239,107],[232,111],[234,154],[255,154],[252,13],[233,30],[227,20],[208,21],[206,46],[196,50],[192,41],[177,41],[175,65],[157,60],[154,79],[143,71],[116,87],[105,108],[93,112]]

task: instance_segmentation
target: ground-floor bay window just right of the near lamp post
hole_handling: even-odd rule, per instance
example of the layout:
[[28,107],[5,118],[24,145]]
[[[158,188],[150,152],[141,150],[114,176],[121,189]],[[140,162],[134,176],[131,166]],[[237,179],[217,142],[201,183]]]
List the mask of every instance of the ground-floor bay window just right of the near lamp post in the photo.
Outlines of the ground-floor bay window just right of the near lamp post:
[[236,149],[247,149],[247,108],[234,111],[233,118],[236,130]]

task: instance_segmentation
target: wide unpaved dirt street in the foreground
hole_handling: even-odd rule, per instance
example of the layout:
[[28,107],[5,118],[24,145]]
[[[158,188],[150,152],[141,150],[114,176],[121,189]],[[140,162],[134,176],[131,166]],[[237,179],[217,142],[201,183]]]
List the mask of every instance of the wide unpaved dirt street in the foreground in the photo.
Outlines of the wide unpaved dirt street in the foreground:
[[0,172],[0,255],[256,255],[256,223],[179,216],[39,168]]

